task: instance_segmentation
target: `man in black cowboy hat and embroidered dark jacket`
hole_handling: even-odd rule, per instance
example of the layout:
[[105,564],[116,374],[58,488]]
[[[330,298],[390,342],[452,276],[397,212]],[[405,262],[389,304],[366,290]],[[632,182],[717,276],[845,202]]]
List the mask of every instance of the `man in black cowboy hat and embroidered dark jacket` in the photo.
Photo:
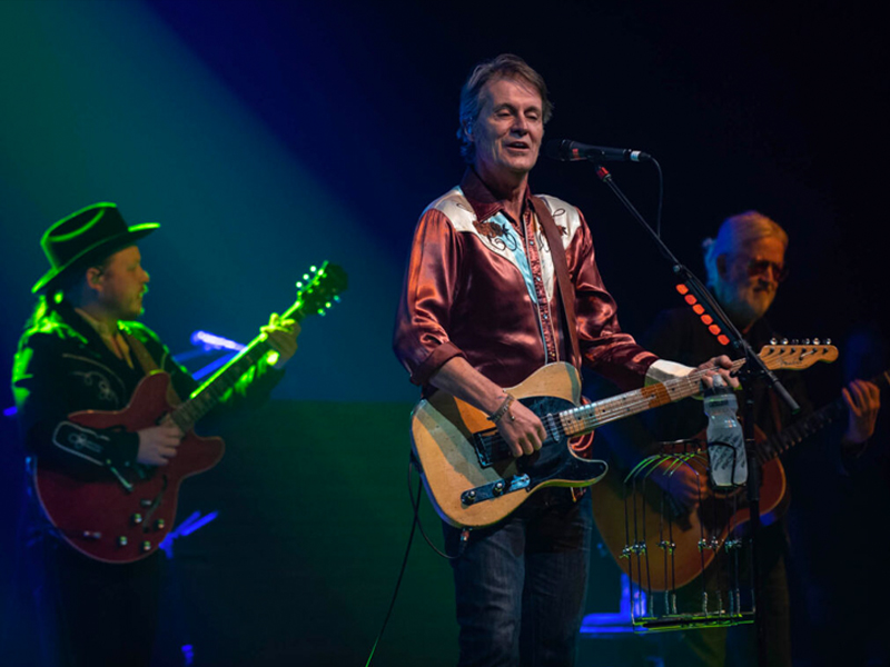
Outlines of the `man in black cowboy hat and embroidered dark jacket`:
[[[127,407],[136,386],[156,368],[170,375],[181,398],[197,387],[155,334],[134,321],[142,313],[149,281],[136,243],[158,227],[129,227],[113,203],[96,203],[43,235],[50,270],[33,287],[38,303],[12,374],[31,471],[38,459],[41,468],[81,481],[108,480],[137,466],[162,469],[177,456],[184,434],[169,418],[138,432],[68,419],[80,410]],[[299,327],[274,315],[263,330],[280,367],[296,351]],[[256,381],[236,395],[263,398],[281,377],[265,360],[253,370]],[[51,653],[44,657],[52,665],[148,665],[158,625],[158,552],[125,565],[91,560],[56,539],[46,518],[34,519],[28,563],[38,577],[41,644]]]

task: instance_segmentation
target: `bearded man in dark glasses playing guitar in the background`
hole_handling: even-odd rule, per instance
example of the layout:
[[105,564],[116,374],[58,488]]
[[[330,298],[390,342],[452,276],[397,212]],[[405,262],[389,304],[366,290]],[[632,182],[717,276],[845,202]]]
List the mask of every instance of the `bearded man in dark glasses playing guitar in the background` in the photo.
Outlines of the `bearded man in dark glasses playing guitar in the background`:
[[[728,218],[720,227],[716,238],[708,239],[704,243],[708,286],[755,350],[777,337],[764,316],[788,272],[787,248],[785,231],[773,220],[756,211]],[[684,364],[695,364],[696,360],[726,350],[690,308],[661,313],[644,340],[650,349]],[[801,404],[801,416],[811,411],[802,375],[780,374],[780,379]],[[758,382],[753,391],[754,419],[765,435],[779,432],[783,427],[793,424],[795,418],[800,418],[800,416],[792,417],[784,402],[767,390],[764,382]],[[829,431],[823,437],[833,438],[834,442],[840,438],[841,447],[846,451],[860,451],[874,430],[880,407],[879,390],[871,382],[853,380],[842,394],[849,409],[846,424],[837,432]],[[739,399],[739,404],[742,405],[742,398]],[[651,440],[690,438],[706,424],[701,405],[695,405],[693,401],[674,404],[653,411],[645,416],[645,421],[650,426]],[[631,425],[622,426],[624,428],[619,427],[607,434],[613,448],[627,447],[626,439]],[[625,441],[621,441],[622,438]],[[639,439],[640,436],[634,438]],[[633,442],[631,446],[639,449],[641,442]],[[808,444],[803,442],[791,454],[800,454],[805,447]],[[682,468],[680,474],[683,472],[686,472],[684,481],[691,488],[695,480],[689,475],[688,469]],[[793,484],[793,474],[791,477]],[[683,495],[682,489],[679,495]],[[692,494],[688,494],[686,500],[692,497]],[[765,527],[761,535],[763,594],[758,601],[758,610],[765,616],[769,664],[789,667],[791,648],[785,576],[788,538],[781,524]],[[693,586],[690,585],[690,588]],[[696,587],[695,590],[700,588]],[[669,648],[664,656],[665,664],[669,667],[696,665],[716,667],[724,663],[753,664],[751,660],[755,656],[755,645],[752,629],[752,626],[733,628],[729,633],[729,647],[726,633],[720,629],[664,637],[662,646]]]

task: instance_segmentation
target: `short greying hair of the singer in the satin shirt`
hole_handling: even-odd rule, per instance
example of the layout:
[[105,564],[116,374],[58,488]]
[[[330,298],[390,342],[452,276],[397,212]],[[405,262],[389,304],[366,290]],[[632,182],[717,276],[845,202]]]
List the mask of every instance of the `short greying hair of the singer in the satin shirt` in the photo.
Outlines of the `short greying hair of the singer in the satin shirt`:
[[553,116],[553,103],[547,99],[547,84],[544,82],[544,77],[533,70],[522,58],[513,53],[502,53],[497,58],[478,63],[473,68],[461,89],[461,125],[457,128],[457,138],[461,140],[461,155],[467,162],[472,162],[475,158],[476,147],[467,140],[464,128],[475,122],[479,116],[482,89],[488,81],[497,79],[522,79],[528,82],[541,94],[544,123],[546,125]]

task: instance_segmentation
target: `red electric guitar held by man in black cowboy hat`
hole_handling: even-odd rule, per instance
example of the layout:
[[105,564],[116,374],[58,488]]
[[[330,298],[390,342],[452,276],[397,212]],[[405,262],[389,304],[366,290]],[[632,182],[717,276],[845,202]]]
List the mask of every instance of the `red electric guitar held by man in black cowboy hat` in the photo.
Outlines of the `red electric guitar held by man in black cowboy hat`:
[[[324,315],[347,285],[344,270],[327,262],[313,267],[304,281],[306,285],[297,283],[297,299],[281,319],[300,321]],[[78,479],[38,460],[34,488],[58,534],[85,556],[105,563],[132,563],[156,551],[174,527],[182,479],[212,468],[222,458],[222,439],[199,437],[194,425],[250,367],[273,351],[265,335],[258,336],[179,405],[169,402],[170,376],[156,370],[142,378],[122,410],[69,415],[71,421],[88,428],[131,432],[155,426],[169,415],[186,436],[168,465],[107,467],[98,480]]]

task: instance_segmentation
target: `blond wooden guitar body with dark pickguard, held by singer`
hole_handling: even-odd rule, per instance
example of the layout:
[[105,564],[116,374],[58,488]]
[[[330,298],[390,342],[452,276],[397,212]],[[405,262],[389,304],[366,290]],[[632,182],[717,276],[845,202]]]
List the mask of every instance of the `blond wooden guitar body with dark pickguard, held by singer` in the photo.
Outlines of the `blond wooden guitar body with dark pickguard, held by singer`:
[[[543,417],[577,406],[581,382],[572,366],[550,364],[508,391]],[[496,434],[494,425],[481,410],[444,391],[415,407],[411,430],[427,495],[442,519],[457,527],[490,526],[541,488],[590,486],[607,470],[603,461],[575,455],[564,437],[548,437],[540,451],[518,459],[503,450],[481,456],[478,438]],[[472,491],[475,499],[467,501]]]

